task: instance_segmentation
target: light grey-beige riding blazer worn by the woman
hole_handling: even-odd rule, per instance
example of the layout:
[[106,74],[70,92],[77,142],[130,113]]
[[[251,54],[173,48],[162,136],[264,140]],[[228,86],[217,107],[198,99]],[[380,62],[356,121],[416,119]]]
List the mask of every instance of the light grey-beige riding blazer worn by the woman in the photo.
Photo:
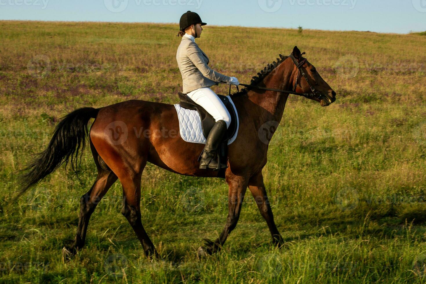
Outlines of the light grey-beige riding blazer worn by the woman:
[[231,81],[231,77],[210,69],[207,65],[209,57],[187,37],[182,37],[176,60],[181,71],[185,94],[203,87],[219,85],[218,82],[229,84]]

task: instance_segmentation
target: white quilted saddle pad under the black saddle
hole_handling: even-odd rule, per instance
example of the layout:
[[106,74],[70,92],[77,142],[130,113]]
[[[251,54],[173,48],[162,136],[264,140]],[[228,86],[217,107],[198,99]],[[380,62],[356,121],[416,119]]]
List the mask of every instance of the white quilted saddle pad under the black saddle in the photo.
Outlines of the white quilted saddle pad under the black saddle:
[[[235,108],[234,102],[230,98],[230,96],[227,96],[229,98],[230,103],[232,104],[236,118],[237,118],[237,130],[235,134],[228,140],[228,145],[235,141],[235,138],[238,135],[238,126],[239,126],[239,120],[238,120],[238,113]],[[184,141],[191,142],[191,143],[200,143],[205,144],[206,138],[204,137],[203,133],[203,127],[201,126],[201,117],[199,112],[196,110],[190,110],[190,109],[184,109],[179,104],[175,104],[176,111],[178,112],[178,118],[179,118],[179,129],[181,133],[181,137]]]

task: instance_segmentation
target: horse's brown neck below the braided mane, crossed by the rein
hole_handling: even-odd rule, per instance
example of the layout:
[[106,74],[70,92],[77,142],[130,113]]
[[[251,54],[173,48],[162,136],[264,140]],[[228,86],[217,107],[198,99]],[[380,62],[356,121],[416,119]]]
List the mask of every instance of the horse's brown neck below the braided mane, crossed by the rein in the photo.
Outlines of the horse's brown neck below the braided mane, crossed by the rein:
[[[291,89],[291,70],[284,61],[276,70],[266,76],[258,86],[263,86],[270,89]],[[256,107],[258,112],[253,115],[259,115],[260,120],[270,121],[275,120],[279,122],[284,113],[285,103],[288,95],[281,92],[264,91],[260,89],[252,89],[247,93],[248,105],[250,109]],[[253,103],[255,106],[253,106]],[[248,113],[250,115],[250,112]]]

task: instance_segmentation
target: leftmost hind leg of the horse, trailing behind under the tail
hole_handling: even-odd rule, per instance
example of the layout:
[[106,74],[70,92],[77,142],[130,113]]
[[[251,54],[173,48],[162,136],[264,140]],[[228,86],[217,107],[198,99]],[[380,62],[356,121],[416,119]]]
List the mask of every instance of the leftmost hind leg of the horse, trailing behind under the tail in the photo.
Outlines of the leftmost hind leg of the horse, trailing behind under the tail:
[[96,205],[101,201],[101,198],[104,197],[108,189],[117,180],[117,176],[108,168],[104,161],[102,161],[92,143],[90,143],[90,146],[92,148],[96,167],[98,168],[98,176],[92,188],[80,198],[80,216],[78,218],[77,233],[75,234],[74,242],[71,246],[65,246],[62,249],[64,260],[72,258],[77,250],[80,250],[84,246],[90,215],[92,215]]

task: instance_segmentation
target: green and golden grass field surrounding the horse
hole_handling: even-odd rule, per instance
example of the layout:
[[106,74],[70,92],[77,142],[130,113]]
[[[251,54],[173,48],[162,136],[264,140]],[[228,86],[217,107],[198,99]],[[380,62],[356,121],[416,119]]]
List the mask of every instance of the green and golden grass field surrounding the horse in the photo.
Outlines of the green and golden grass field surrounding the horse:
[[[326,108],[289,98],[263,175],[286,248],[246,196],[222,251],[197,260],[227,215],[222,179],[148,164],[142,223],[164,261],[148,261],[121,215],[117,181],[86,247],[62,262],[79,199],[96,176],[62,166],[15,204],[20,169],[72,110],[142,99],[177,103],[177,25],[0,21],[0,282],[426,283],[426,37],[206,26],[210,66],[249,83],[297,45],[337,92]],[[34,69],[33,62],[40,63]],[[214,86],[226,93],[226,86]]]

